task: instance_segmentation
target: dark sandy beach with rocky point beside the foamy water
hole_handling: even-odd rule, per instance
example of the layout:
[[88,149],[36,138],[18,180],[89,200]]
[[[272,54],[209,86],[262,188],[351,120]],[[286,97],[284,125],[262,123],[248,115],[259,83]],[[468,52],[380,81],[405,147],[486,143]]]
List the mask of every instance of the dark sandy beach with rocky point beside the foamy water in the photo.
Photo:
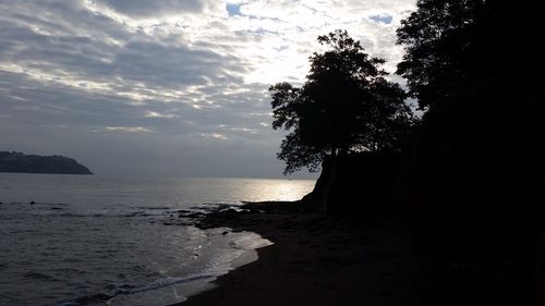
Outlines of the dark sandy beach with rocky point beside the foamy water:
[[409,232],[396,218],[301,213],[296,203],[246,204],[207,215],[199,228],[251,231],[274,244],[216,286],[171,306],[429,305]]

